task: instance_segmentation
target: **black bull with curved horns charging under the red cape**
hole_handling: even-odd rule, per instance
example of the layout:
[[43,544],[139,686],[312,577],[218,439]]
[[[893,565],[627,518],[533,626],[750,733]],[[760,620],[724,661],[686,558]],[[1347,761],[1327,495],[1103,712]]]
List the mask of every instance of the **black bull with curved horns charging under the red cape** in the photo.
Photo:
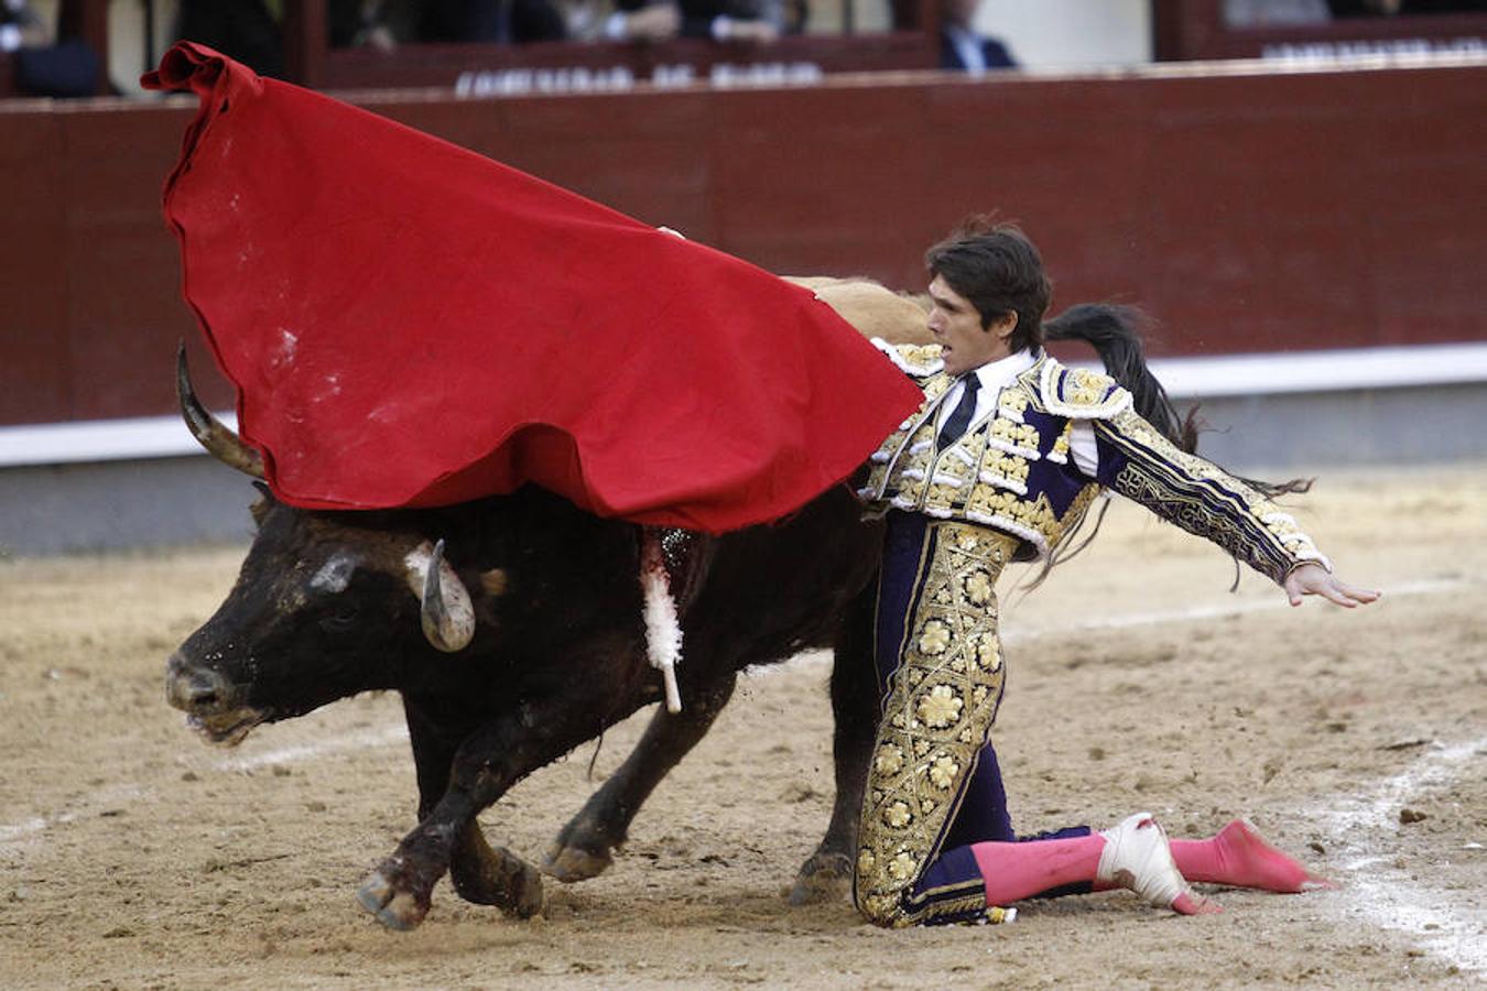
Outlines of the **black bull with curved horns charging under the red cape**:
[[[187,422],[208,450],[254,472],[254,452],[201,410],[184,370],[181,382]],[[683,623],[681,712],[657,710],[635,752],[559,832],[549,874],[575,881],[608,866],[641,802],[706,732],[739,670],[833,646],[836,807],[794,897],[840,891],[877,704],[868,631],[882,535],[861,517],[839,486],[779,524],[718,539]],[[171,704],[214,741],[235,743],[260,722],[367,689],[399,691],[419,822],[361,884],[360,903],[410,929],[448,871],[467,900],[537,911],[541,877],[492,848],[476,816],[660,697],[645,651],[638,527],[535,487],[387,513],[312,513],[265,489],[254,519],[257,535],[226,602],[170,658]],[[452,569],[430,560],[434,541],[448,541]],[[443,588],[425,593],[427,572],[443,574]],[[454,612],[474,618],[455,652],[446,651],[458,642],[434,646],[449,623],[439,603],[451,584]]]

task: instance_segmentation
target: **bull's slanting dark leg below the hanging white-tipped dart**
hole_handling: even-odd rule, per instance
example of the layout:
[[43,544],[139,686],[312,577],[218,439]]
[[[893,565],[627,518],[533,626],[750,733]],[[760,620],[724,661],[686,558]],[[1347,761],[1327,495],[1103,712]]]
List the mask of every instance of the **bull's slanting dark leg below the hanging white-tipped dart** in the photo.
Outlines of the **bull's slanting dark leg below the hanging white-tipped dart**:
[[[688,658],[688,670],[706,670],[706,660],[697,651]],[[706,735],[733,695],[736,682],[735,670],[721,672],[700,685],[683,680],[681,712],[666,712],[665,706],[656,710],[625,764],[558,834],[543,857],[543,871],[565,884],[604,874],[614,863],[614,850],[625,844],[641,804]]]

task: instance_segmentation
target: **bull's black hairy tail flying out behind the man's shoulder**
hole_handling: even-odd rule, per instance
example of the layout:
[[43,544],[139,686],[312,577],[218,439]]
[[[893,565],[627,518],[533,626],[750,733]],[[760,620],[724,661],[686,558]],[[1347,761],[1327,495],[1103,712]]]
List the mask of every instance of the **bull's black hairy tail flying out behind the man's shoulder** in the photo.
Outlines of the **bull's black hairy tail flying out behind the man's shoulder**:
[[[1161,382],[1151,374],[1146,349],[1142,346],[1146,322],[1145,313],[1133,306],[1080,303],[1044,321],[1042,330],[1048,340],[1083,340],[1091,345],[1105,363],[1105,371],[1130,392],[1136,412],[1173,444],[1196,453],[1199,432],[1203,429],[1199,407],[1194,406],[1187,416],[1179,415]],[[1277,483],[1236,477],[1270,498],[1312,487],[1307,478]]]

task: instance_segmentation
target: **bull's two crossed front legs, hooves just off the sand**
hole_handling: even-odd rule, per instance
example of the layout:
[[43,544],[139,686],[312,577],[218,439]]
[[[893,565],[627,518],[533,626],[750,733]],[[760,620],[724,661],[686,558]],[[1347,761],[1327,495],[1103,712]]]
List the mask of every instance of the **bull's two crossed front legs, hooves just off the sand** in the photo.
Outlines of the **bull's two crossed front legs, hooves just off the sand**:
[[[357,890],[360,905],[390,929],[415,929],[428,914],[434,886],[458,863],[455,886],[462,896],[519,909],[531,906],[535,891],[537,905],[531,906],[535,911],[541,880],[513,854],[491,850],[476,816],[522,777],[581,743],[592,731],[589,724],[580,728],[574,718],[581,710],[575,698],[529,704],[467,735],[446,765],[443,793]],[[409,725],[412,730],[413,721]],[[430,756],[437,749],[436,741]],[[419,789],[425,784],[433,789],[437,765],[425,774],[424,761],[418,764]]]

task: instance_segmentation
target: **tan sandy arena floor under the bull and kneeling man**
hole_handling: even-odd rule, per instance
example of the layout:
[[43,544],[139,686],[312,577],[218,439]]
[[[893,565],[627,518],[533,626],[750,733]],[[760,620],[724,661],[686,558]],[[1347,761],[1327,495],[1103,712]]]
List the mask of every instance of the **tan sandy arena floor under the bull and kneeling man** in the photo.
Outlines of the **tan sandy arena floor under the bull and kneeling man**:
[[[352,899],[413,825],[394,697],[235,750],[164,701],[165,657],[242,548],[3,562],[0,985],[1481,987],[1487,468],[1323,472],[1298,516],[1381,603],[1291,611],[1252,574],[1230,594],[1219,551],[1126,504],[1030,597],[1004,581],[998,749],[1026,832],[1149,808],[1196,836],[1246,814],[1341,890],[1219,890],[1204,918],[1109,893],[910,932],[782,899],[831,801],[819,657],[744,680],[605,877],[549,881],[526,923],[442,883],[399,935]],[[489,810],[492,841],[540,856],[645,718],[608,734],[595,780],[589,744]]]

